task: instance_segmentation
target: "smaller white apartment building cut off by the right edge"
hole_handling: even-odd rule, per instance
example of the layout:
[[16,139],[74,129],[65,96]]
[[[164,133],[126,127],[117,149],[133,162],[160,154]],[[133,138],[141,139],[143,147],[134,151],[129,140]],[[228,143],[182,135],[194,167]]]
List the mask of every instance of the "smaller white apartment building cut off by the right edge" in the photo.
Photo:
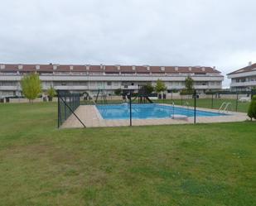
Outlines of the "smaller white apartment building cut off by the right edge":
[[250,91],[256,87],[256,64],[249,62],[249,65],[227,74],[231,79],[231,91]]

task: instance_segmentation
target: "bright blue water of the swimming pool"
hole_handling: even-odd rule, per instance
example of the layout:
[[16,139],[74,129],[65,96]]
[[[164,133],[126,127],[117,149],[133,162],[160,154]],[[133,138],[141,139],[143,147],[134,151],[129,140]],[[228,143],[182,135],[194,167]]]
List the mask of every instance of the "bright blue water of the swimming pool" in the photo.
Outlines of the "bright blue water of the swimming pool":
[[[104,119],[128,119],[130,117],[130,108],[126,103],[97,105],[99,113]],[[194,110],[188,108],[172,107],[171,105],[161,105],[157,103],[132,104],[132,116],[134,119],[147,118],[170,118],[172,114],[194,116]],[[196,110],[197,117],[223,116],[223,113],[211,113]]]

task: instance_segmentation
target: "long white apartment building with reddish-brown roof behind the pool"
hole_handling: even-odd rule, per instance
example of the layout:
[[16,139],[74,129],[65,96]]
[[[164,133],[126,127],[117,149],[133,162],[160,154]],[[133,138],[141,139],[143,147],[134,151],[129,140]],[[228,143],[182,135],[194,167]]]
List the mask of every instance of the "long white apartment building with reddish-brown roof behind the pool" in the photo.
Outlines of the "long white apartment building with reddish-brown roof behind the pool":
[[52,85],[55,89],[91,93],[98,89],[114,93],[115,89],[127,89],[129,85],[154,85],[157,79],[164,81],[168,91],[181,90],[187,76],[194,79],[195,88],[203,93],[221,89],[224,79],[214,67],[204,66],[0,64],[0,98],[22,95],[20,80],[31,72],[40,75],[43,90]]

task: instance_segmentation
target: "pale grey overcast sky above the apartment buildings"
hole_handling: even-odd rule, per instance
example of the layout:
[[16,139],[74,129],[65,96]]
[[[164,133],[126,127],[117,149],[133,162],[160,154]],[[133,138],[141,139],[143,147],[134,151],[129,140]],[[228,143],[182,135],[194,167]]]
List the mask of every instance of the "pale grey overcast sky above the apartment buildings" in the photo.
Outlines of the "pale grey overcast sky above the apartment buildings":
[[1,0],[0,62],[205,65],[227,74],[256,62],[255,8],[255,0]]

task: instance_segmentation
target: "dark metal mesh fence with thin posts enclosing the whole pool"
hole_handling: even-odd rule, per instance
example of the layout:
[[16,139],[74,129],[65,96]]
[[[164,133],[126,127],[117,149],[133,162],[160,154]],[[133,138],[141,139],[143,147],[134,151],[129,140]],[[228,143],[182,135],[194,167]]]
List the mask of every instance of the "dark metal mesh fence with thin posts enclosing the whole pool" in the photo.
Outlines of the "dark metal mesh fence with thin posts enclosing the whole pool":
[[[97,95],[92,96],[88,92],[84,93],[70,93],[69,91],[57,91],[58,92],[58,126],[60,127],[65,120],[74,114],[80,121],[80,118],[75,114],[75,109],[80,105],[97,105],[97,104],[128,104],[129,113],[129,125],[133,125],[133,105],[138,103],[164,103],[170,106],[181,106],[182,108],[189,109],[190,117],[193,113],[194,122],[196,123],[196,110],[200,108],[215,109],[217,112],[222,113],[229,112],[242,112],[247,113],[249,108],[250,99],[253,95],[256,95],[256,90],[244,92],[229,92],[218,91],[200,93],[200,91],[194,90],[189,94],[182,93],[166,93],[162,95],[162,99],[150,99],[143,93],[136,93],[133,90],[126,90],[123,96],[106,96],[104,91],[100,91]],[[175,107],[173,107],[174,110]],[[191,111],[192,110],[192,111]],[[84,114],[83,114],[84,115]],[[81,122],[81,121],[80,121]],[[85,124],[81,122],[85,127]]]

